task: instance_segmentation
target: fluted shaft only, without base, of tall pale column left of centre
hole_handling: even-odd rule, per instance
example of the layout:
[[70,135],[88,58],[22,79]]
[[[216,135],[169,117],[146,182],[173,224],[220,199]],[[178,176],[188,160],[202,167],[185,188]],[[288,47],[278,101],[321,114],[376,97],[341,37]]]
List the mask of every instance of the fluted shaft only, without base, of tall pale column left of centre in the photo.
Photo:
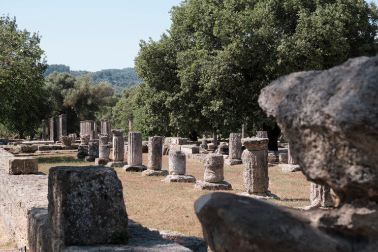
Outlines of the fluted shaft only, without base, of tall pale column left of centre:
[[127,164],[141,165],[143,153],[142,133],[129,131],[127,141]]

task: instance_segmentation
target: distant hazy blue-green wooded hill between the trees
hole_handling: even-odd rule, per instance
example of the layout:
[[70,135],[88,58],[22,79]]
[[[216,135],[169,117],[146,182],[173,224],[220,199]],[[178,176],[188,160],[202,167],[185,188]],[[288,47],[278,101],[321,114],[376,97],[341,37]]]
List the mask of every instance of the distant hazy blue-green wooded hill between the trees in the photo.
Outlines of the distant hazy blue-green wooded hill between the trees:
[[54,71],[67,72],[73,74],[75,77],[92,73],[93,81],[95,82],[95,84],[98,84],[101,81],[108,81],[113,85],[115,91],[118,93],[121,93],[125,88],[139,85],[140,83],[140,79],[138,78],[138,75],[132,67],[126,67],[124,69],[105,69],[97,72],[89,72],[82,70],[71,71],[68,65],[51,64],[47,67],[44,75],[48,76]]

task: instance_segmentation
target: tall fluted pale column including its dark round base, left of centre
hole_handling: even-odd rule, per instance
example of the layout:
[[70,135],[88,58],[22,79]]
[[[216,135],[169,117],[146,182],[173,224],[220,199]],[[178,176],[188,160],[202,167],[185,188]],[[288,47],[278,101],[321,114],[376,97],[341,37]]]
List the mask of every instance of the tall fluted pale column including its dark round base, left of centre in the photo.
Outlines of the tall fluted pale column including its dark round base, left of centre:
[[142,165],[142,133],[128,132],[127,139],[127,165],[123,171],[144,171],[147,169]]

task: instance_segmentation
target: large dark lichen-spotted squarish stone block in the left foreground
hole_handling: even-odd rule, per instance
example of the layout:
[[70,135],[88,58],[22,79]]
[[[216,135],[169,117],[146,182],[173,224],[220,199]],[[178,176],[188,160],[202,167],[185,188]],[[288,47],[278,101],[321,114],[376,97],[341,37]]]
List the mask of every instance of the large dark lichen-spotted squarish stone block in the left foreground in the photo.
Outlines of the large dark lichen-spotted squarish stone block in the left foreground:
[[48,185],[49,223],[63,246],[126,244],[127,213],[113,168],[52,167]]

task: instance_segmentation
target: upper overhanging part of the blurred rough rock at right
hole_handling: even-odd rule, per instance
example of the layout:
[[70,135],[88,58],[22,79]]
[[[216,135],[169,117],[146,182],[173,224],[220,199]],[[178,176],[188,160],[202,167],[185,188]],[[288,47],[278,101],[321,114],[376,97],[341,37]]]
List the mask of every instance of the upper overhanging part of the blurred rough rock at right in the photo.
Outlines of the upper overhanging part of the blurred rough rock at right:
[[[262,89],[307,178],[341,197],[378,196],[378,56],[283,76]],[[314,158],[316,157],[316,158]]]

